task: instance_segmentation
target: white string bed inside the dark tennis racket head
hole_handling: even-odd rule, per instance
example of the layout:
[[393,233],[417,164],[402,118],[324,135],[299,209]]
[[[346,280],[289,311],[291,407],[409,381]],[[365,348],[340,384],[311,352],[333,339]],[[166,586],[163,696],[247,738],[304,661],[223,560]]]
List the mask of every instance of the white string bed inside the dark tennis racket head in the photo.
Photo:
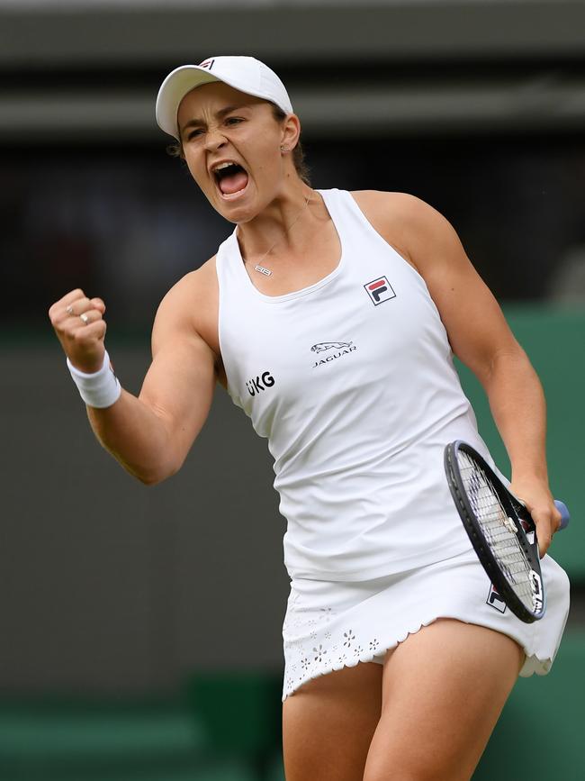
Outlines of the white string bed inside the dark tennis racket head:
[[465,491],[491,552],[518,598],[533,611],[536,600],[532,567],[518,544],[513,525],[518,521],[509,519],[490,478],[482,468],[462,450],[459,450],[457,456]]

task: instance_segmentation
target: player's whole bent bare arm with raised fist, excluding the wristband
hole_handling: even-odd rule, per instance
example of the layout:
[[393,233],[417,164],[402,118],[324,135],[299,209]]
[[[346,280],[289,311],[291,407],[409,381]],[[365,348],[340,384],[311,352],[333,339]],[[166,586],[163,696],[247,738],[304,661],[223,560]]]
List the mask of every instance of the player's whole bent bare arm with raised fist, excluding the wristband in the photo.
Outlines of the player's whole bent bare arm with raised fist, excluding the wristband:
[[[88,299],[74,291],[49,314],[68,358],[76,368],[91,372],[103,362],[105,307],[100,299],[92,299],[93,322],[84,326],[78,316],[67,315],[73,295],[75,308],[86,311]],[[181,467],[211,408],[215,357],[193,328],[190,301],[182,280],[160,304],[152,335],[153,360],[138,398],[122,390],[118,401],[105,409],[87,407],[103,447],[148,485]]]

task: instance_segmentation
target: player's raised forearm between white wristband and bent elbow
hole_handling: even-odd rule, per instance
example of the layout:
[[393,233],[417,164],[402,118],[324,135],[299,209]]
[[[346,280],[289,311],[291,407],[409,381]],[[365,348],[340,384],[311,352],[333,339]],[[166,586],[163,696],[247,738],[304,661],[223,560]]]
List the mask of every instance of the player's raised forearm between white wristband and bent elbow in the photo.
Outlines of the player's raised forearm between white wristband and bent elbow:
[[136,396],[122,390],[110,407],[88,406],[87,416],[103,448],[142,483],[153,485],[175,473],[164,420]]

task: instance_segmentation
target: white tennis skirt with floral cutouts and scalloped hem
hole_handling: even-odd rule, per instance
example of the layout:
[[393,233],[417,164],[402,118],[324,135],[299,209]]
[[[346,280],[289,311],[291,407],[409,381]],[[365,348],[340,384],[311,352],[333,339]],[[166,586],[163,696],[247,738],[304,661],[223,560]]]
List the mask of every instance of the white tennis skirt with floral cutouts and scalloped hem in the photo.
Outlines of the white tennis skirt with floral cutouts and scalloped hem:
[[541,560],[545,617],[524,623],[510,612],[475,551],[399,574],[360,582],[293,578],[283,625],[283,702],[302,684],[358,662],[383,664],[386,650],[437,618],[501,631],[525,651],[520,675],[545,675],[569,613],[569,579],[550,556]]

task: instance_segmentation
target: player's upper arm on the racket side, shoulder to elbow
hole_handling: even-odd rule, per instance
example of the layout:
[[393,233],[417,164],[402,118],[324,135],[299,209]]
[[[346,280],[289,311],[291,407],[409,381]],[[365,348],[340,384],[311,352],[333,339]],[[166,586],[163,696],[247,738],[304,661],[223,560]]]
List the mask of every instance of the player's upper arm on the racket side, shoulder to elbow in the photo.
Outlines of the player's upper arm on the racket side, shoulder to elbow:
[[437,305],[455,355],[484,382],[499,355],[521,348],[453,226],[428,204],[419,204],[411,258]]

